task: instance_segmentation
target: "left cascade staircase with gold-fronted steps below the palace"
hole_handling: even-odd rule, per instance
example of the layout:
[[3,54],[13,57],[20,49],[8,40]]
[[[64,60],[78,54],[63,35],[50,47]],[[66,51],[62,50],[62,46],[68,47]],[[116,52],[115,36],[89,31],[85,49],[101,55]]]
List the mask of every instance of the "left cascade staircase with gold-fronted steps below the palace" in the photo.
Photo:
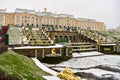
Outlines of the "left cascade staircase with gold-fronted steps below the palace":
[[27,37],[30,46],[50,46],[53,45],[52,40],[45,34],[42,29],[24,29],[25,36]]

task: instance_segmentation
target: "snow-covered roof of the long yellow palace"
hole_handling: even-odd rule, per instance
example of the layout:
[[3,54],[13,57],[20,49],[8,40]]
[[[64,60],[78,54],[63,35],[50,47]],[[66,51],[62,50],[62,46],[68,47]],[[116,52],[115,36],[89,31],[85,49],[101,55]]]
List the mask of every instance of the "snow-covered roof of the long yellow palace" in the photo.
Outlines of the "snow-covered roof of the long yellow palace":
[[[6,13],[6,9],[0,9],[0,12],[2,13]],[[44,15],[49,15],[49,16],[52,16],[52,17],[70,17],[71,19],[76,19],[74,17],[74,15],[71,15],[71,14],[56,14],[56,13],[52,13],[52,12],[46,12],[46,11],[43,11],[43,12],[36,12],[34,9],[33,10],[30,10],[30,9],[21,9],[21,8],[16,8],[15,9],[15,13],[24,13],[24,12],[27,12],[29,14],[35,14],[35,15],[38,15],[38,16],[44,16]],[[77,20],[82,20],[82,21],[90,21],[90,22],[96,22],[95,19],[86,19],[86,18],[77,18]]]

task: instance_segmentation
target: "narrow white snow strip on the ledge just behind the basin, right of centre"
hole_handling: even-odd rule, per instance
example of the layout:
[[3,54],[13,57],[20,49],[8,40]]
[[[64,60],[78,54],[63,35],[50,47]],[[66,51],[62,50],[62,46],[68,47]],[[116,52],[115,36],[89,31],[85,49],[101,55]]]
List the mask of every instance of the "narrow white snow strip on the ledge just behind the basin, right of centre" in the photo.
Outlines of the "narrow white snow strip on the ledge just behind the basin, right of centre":
[[86,56],[94,56],[94,55],[102,55],[103,53],[92,51],[92,52],[81,52],[81,53],[73,53],[73,57],[86,57]]

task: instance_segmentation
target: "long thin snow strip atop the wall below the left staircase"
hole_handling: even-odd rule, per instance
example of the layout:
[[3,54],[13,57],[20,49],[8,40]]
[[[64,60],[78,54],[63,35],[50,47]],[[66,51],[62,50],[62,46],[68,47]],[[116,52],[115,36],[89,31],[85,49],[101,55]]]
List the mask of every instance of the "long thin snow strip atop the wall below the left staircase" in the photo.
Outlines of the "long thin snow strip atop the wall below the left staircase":
[[14,47],[14,49],[33,49],[33,48],[62,48],[64,47],[64,45],[60,45],[60,44],[55,44],[53,46],[22,46],[22,47]]

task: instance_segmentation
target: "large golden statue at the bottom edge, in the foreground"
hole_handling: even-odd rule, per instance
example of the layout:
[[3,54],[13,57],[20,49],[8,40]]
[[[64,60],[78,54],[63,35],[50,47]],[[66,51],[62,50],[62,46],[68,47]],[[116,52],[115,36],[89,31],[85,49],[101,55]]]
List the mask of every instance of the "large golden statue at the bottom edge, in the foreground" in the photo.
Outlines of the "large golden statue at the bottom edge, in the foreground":
[[75,78],[73,71],[68,67],[66,67],[63,71],[58,73],[57,76],[64,80],[81,80],[80,77]]

